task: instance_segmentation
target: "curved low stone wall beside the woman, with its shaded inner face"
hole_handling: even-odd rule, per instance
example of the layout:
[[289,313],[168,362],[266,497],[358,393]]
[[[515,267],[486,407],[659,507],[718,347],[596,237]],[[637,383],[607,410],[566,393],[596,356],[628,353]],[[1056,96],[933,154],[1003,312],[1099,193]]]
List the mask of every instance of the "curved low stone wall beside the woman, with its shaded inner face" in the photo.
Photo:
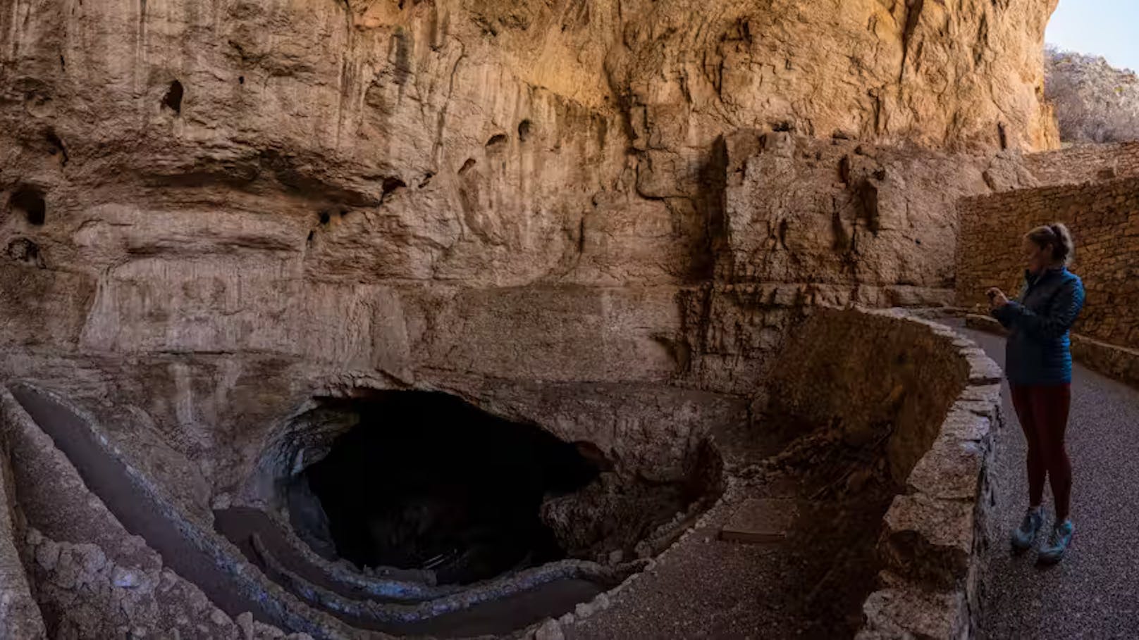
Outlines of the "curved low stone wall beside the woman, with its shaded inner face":
[[786,340],[767,380],[771,420],[878,437],[903,487],[883,518],[879,589],[862,640],[966,638],[981,617],[992,540],[992,429],[1000,368],[967,338],[902,310],[817,309]]

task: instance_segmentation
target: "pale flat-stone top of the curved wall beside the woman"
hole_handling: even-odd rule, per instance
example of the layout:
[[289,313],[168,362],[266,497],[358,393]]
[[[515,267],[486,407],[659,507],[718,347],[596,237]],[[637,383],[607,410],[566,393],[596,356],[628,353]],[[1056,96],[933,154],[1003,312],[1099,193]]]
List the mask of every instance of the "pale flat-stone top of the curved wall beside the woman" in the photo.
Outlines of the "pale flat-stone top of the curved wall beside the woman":
[[[993,538],[989,469],[992,430],[1003,420],[1001,371],[949,327],[901,312],[868,317],[877,330],[863,339],[921,335],[916,344],[945,350],[964,364],[964,375],[948,410],[940,413],[943,419],[932,434],[933,442],[906,478],[906,492],[894,499],[884,518],[878,542],[884,566],[880,589],[863,604],[866,623],[859,638],[969,638],[982,614],[982,553]],[[888,343],[874,344],[885,347]],[[867,377],[870,371],[878,374],[868,368]],[[920,388],[925,380],[913,381]]]

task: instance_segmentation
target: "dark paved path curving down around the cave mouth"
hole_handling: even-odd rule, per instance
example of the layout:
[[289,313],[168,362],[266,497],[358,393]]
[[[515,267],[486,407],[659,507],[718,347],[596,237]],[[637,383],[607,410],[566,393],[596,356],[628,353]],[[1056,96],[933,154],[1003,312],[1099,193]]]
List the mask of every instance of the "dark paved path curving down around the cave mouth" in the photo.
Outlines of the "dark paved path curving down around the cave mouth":
[[[251,612],[259,621],[304,631],[317,638],[355,637],[347,629],[323,629],[322,621],[313,620],[306,607],[314,606],[357,629],[401,635],[467,638],[509,634],[513,630],[574,610],[579,602],[592,600],[624,577],[624,574],[592,563],[563,560],[523,569],[509,579],[500,577],[462,589],[427,588],[400,581],[362,581],[371,586],[387,588],[385,594],[388,597],[377,598],[367,591],[353,591],[352,585],[337,582],[321,567],[311,564],[261,511],[241,508],[215,511],[218,534],[231,536],[237,548],[268,579],[293,591],[293,596],[304,602],[305,606],[294,610],[290,599],[267,592],[256,577],[249,579],[247,568],[237,564],[236,558],[218,544],[220,539],[215,540],[213,532],[203,531],[182,519],[175,507],[162,502],[149,483],[139,479],[138,471],[109,450],[106,440],[92,430],[81,415],[31,386],[16,385],[10,392],[120,523],[145,539],[167,566],[197,584],[232,617]],[[261,536],[268,544],[254,551],[249,540],[254,535]],[[267,549],[276,555],[276,561],[297,569],[289,581],[282,582],[274,571],[267,569]],[[416,593],[416,586],[427,592]],[[326,600],[305,597],[305,593],[318,590],[328,594]],[[334,602],[336,606],[322,606],[321,602]],[[8,638],[2,630],[0,637]]]

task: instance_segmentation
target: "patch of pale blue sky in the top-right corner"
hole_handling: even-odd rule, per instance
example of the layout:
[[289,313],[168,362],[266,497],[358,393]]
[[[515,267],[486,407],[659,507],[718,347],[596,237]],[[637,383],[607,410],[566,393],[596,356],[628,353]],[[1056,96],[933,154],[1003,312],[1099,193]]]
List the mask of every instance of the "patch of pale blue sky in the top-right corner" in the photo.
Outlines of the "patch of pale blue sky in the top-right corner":
[[1139,0],[1060,0],[1044,41],[1139,72]]

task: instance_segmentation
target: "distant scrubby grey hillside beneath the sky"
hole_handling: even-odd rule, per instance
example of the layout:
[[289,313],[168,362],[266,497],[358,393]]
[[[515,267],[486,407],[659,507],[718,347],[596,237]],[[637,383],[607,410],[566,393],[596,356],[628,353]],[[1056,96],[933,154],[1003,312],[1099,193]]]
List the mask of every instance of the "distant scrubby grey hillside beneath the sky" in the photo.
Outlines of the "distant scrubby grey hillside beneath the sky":
[[1139,140],[1139,76],[1096,56],[1044,51],[1046,95],[1064,142]]

